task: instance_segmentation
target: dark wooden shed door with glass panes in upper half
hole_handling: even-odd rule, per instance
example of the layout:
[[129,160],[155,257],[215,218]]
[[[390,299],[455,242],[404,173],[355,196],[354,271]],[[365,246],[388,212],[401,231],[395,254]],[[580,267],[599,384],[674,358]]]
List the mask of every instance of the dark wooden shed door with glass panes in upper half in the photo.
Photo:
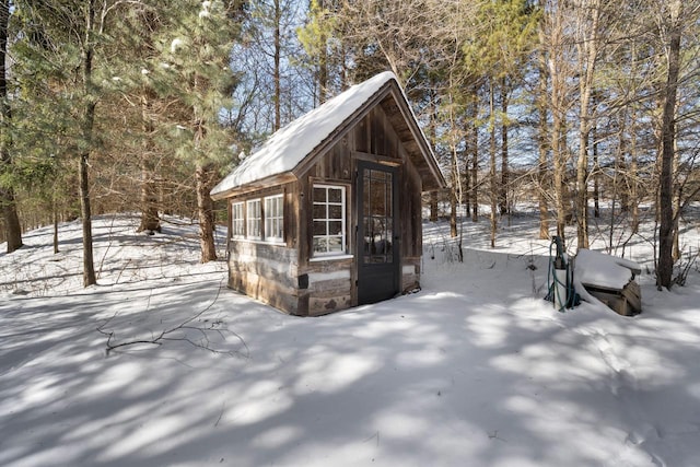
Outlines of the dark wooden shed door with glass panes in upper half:
[[398,170],[358,162],[358,304],[399,292]]

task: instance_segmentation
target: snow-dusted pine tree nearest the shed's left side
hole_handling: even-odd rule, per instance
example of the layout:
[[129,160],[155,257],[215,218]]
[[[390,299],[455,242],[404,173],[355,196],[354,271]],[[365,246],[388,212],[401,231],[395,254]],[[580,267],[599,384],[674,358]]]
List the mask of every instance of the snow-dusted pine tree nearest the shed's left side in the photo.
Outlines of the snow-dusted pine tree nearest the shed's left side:
[[174,100],[172,117],[164,125],[175,153],[194,172],[201,261],[207,262],[217,259],[209,191],[218,171],[232,159],[231,136],[220,116],[232,105],[235,75],[230,57],[238,24],[235,10],[219,0],[178,2],[173,13],[175,27],[159,35],[158,65],[148,72],[162,95]]

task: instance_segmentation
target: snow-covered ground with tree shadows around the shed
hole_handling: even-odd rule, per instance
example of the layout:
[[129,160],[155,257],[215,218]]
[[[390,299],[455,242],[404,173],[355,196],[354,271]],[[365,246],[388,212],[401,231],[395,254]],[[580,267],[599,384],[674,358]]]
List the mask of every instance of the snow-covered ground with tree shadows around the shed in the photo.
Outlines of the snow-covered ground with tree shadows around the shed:
[[700,275],[657,292],[640,237],[643,314],[558,313],[513,222],[493,250],[467,222],[463,264],[425,224],[421,292],[318,318],[226,289],[191,225],[97,219],[86,290],[80,225],[31,232],[0,254],[0,465],[700,465]]

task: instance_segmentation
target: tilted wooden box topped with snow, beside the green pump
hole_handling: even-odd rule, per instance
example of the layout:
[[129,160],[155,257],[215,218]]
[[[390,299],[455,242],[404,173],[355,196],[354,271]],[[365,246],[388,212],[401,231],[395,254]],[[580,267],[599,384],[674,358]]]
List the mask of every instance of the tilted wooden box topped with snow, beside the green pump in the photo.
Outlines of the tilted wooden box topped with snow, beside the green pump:
[[590,249],[579,249],[574,260],[574,288],[587,302],[600,301],[617,314],[642,313],[642,292],[634,277],[642,268],[634,261]]

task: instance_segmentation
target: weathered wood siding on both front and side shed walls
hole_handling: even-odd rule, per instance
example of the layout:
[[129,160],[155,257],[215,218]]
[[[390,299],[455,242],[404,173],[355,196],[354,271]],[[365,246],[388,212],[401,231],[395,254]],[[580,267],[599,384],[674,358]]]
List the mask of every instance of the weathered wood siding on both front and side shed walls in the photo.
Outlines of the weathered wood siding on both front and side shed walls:
[[[399,167],[400,287],[410,292],[420,284],[422,255],[422,178],[402,140],[404,118],[392,98],[358,117],[353,126],[325,153],[317,154],[298,182],[287,183],[231,198],[230,201],[284,194],[284,244],[232,238],[229,248],[229,285],[288,313],[316,316],[358,304],[357,290],[357,162],[365,160]],[[399,128],[400,135],[395,128]],[[412,144],[416,144],[415,142]],[[413,149],[415,150],[415,149]],[[346,187],[347,257],[312,258],[313,185]]]

